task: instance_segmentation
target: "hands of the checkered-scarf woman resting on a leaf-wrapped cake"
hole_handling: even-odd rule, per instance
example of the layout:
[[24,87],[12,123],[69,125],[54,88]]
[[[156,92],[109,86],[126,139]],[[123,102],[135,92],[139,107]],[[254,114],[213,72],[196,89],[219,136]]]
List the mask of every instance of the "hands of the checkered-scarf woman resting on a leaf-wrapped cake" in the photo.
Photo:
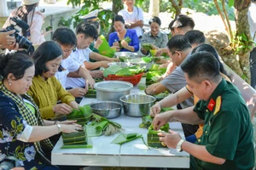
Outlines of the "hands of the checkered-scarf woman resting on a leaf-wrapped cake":
[[79,130],[83,130],[83,127],[76,122],[77,121],[63,121],[58,122],[57,124],[61,124],[62,133],[76,133]]

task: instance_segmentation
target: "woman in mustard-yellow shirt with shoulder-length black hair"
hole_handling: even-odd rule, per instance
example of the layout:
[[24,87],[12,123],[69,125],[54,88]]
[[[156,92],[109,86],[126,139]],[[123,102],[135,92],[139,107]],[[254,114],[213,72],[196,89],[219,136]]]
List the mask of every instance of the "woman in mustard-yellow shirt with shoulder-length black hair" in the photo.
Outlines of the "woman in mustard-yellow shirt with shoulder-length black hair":
[[[62,50],[56,42],[44,42],[32,54],[35,62],[35,77],[28,94],[32,96],[39,106],[44,119],[60,121],[74,109],[79,109],[73,95],[69,94],[59,82],[55,73],[58,71]],[[61,100],[61,104],[57,104]]]

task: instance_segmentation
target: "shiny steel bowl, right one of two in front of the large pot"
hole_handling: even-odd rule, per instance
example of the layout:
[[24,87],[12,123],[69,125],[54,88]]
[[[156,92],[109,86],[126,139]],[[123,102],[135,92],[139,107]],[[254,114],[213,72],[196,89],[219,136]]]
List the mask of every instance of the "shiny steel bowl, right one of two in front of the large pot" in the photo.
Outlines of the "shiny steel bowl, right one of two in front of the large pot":
[[145,94],[129,94],[120,97],[127,116],[149,115],[150,107],[154,105],[155,98]]

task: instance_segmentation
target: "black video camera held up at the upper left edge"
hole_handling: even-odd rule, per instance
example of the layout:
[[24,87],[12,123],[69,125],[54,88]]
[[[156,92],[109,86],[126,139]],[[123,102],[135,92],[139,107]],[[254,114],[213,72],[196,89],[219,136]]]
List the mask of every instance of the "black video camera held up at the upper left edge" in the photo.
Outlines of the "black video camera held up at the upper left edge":
[[15,26],[20,26],[20,28],[28,30],[29,26],[23,20],[19,20],[18,17],[11,17],[10,19],[13,20],[16,25],[11,24],[10,26],[7,26],[5,30],[2,30],[0,32],[15,30],[15,33],[11,34],[10,36],[15,37],[16,42],[19,43],[19,48],[25,48],[28,53],[33,53],[34,47],[32,46],[32,42],[30,42],[26,37],[20,36],[19,35],[20,31],[15,29]]

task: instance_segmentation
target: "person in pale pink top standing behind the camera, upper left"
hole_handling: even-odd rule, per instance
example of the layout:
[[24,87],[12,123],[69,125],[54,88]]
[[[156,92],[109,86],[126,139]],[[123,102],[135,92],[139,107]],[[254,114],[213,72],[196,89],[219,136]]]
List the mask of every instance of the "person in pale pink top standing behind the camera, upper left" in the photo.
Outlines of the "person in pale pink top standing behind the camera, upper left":
[[3,25],[3,28],[6,28],[11,24],[10,17],[19,17],[20,20],[26,22],[29,26],[28,30],[21,29],[16,26],[18,30],[20,30],[20,34],[24,37],[27,37],[33,46],[39,46],[41,43],[45,42],[44,37],[49,33],[49,31],[41,33],[41,29],[44,23],[44,14],[38,11],[39,0],[22,0],[22,6],[13,10]]

